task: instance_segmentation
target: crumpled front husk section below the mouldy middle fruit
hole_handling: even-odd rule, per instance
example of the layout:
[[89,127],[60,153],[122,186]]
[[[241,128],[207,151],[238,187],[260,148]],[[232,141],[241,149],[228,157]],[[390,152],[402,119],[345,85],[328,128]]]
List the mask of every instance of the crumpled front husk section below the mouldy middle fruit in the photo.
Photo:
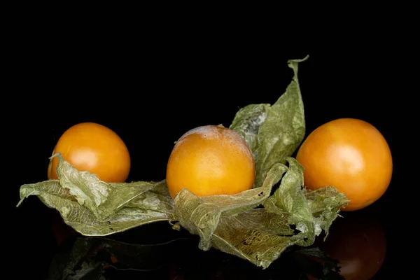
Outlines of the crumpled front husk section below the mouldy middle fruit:
[[[302,188],[302,166],[290,157],[286,161],[288,167],[276,163],[269,169],[260,188],[238,195],[197,197],[182,190],[175,197],[174,218],[200,235],[202,250],[216,248],[268,267],[288,246],[313,244],[348,202],[332,187],[307,193]],[[279,181],[279,188],[269,195]]]

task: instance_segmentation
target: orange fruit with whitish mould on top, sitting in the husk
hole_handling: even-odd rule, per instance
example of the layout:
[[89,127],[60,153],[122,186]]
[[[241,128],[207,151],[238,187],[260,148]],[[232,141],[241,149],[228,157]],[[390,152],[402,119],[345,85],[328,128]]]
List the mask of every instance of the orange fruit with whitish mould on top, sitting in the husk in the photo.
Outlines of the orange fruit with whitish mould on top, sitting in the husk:
[[240,134],[222,125],[186,132],[167,163],[167,186],[174,198],[183,188],[197,196],[234,195],[253,187],[255,163]]

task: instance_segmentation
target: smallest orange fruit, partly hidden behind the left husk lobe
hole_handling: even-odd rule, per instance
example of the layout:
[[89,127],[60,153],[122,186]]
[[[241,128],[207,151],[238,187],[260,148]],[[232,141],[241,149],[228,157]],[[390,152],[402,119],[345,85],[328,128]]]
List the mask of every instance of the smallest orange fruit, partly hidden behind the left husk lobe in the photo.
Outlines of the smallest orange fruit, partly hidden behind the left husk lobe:
[[[79,171],[96,174],[106,182],[125,182],[130,172],[130,154],[123,140],[104,125],[79,123],[70,127],[57,141],[54,153]],[[48,166],[48,179],[58,179],[58,159]]]

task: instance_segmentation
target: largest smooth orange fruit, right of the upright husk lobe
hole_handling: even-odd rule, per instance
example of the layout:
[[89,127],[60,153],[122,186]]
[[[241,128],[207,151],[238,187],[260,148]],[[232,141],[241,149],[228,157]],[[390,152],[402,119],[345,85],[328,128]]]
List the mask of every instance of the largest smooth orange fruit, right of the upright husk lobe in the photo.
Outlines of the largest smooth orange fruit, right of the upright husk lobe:
[[341,118],[316,128],[296,155],[304,167],[304,186],[335,186],[350,200],[343,211],[365,208],[381,197],[393,171],[384,136],[363,120]]

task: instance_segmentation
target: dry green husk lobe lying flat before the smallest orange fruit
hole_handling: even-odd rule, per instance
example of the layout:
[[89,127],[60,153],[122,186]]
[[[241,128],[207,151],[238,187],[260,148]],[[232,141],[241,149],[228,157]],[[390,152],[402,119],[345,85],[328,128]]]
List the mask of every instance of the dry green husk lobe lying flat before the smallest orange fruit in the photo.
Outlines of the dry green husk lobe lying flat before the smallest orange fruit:
[[[57,209],[74,230],[92,236],[111,235],[146,223],[169,221],[172,217],[174,204],[165,181],[104,183],[88,172],[78,172],[62,158],[57,169],[62,176],[59,180],[23,185],[18,205],[29,195],[36,195],[45,205]],[[90,192],[94,186],[106,190],[107,195]],[[95,195],[102,199],[98,206],[92,203]],[[107,214],[98,218],[99,213]]]

